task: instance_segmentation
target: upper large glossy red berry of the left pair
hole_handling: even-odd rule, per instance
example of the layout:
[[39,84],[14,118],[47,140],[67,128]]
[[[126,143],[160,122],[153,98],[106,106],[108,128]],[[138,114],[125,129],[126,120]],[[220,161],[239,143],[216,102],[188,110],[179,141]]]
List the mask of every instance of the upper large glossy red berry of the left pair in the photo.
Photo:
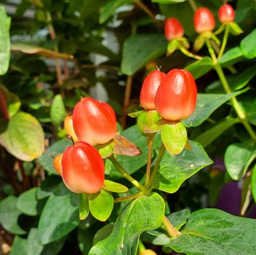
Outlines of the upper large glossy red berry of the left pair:
[[73,128],[80,141],[107,143],[116,135],[115,112],[107,103],[83,98],[73,110]]

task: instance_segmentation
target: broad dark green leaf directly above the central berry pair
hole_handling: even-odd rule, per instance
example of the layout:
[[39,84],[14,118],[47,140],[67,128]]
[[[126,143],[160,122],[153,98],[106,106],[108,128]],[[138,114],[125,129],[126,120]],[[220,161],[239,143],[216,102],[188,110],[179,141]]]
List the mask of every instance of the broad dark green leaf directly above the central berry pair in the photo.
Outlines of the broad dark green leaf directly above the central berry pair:
[[147,62],[165,54],[167,40],[163,34],[135,34],[124,41],[121,71],[133,75]]

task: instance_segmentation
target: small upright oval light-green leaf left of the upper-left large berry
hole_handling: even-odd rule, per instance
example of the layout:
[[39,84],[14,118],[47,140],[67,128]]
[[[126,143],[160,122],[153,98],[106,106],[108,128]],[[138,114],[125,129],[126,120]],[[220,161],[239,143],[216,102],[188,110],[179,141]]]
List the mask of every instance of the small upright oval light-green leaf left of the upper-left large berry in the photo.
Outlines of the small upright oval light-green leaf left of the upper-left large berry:
[[50,106],[50,117],[52,119],[52,123],[58,126],[64,120],[65,116],[66,112],[63,99],[60,94],[57,94],[54,96],[54,100]]

